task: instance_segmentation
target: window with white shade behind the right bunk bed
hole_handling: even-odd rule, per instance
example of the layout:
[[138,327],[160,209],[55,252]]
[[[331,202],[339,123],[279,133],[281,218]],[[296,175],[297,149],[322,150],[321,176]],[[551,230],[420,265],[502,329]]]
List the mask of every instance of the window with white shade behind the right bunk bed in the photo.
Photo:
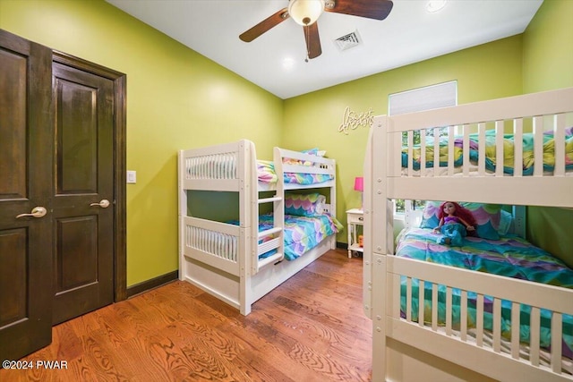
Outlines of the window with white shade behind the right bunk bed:
[[[458,81],[442,82],[436,85],[411,89],[399,93],[390,94],[388,97],[388,115],[400,115],[406,113],[421,112],[423,110],[437,109],[440,107],[458,105]],[[415,131],[414,143],[420,143],[420,132]],[[446,129],[440,129],[440,136],[447,135]],[[433,130],[426,132],[433,135]],[[402,143],[407,143],[407,133],[402,135]],[[404,213],[404,199],[394,200],[395,213]],[[425,200],[413,200],[414,209],[422,209]]]

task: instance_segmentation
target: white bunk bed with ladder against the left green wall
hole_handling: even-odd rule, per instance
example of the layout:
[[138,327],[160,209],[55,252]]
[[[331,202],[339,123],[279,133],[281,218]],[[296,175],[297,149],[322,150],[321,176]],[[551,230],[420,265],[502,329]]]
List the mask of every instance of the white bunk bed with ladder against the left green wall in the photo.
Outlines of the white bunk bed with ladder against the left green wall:
[[[336,234],[329,234],[299,258],[285,259],[286,191],[322,189],[329,197],[329,203],[321,205],[322,212],[336,220],[335,160],[274,148],[276,182],[270,183],[260,182],[258,168],[262,162],[256,159],[250,140],[179,152],[179,278],[226,301],[244,315],[251,312],[252,303],[327,250],[336,248]],[[285,176],[292,180],[296,175],[319,178],[320,183],[285,181]],[[238,194],[238,206],[230,206],[238,209],[235,223],[190,216],[189,191]],[[271,191],[272,195],[262,191]],[[260,232],[263,205],[271,205],[268,209],[273,213],[271,226]],[[265,253],[272,254],[261,257]]]

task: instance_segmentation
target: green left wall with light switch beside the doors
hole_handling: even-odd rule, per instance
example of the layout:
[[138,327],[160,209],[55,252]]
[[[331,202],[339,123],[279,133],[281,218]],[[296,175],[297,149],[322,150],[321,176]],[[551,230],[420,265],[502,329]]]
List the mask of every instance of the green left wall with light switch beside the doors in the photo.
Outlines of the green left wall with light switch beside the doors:
[[127,74],[127,284],[178,267],[176,152],[281,143],[283,101],[103,1],[0,0],[0,28]]

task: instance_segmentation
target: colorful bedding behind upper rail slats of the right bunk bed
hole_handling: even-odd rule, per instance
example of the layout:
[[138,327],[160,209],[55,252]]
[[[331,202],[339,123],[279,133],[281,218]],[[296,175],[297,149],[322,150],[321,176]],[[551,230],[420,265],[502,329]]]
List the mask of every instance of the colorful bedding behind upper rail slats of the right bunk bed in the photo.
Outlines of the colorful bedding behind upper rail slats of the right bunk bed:
[[[506,134],[503,136],[503,172],[513,174],[514,172],[514,137]],[[428,137],[426,142],[426,168],[433,167],[433,138]],[[469,158],[473,164],[478,160],[478,136],[470,134],[469,136]],[[485,168],[488,171],[495,171],[497,160],[495,157],[495,131],[488,130],[485,132]],[[553,132],[543,133],[543,171],[552,172],[555,166],[555,140]],[[420,169],[420,144],[413,147],[412,157],[414,158],[413,167],[415,170]],[[454,140],[454,166],[463,164],[463,137],[456,137]],[[523,174],[531,175],[534,173],[534,135],[533,133],[523,134]],[[402,148],[402,167],[408,166],[408,149]],[[440,138],[440,167],[448,166],[448,139]],[[569,127],[565,132],[565,168],[566,171],[573,170],[573,127]]]

